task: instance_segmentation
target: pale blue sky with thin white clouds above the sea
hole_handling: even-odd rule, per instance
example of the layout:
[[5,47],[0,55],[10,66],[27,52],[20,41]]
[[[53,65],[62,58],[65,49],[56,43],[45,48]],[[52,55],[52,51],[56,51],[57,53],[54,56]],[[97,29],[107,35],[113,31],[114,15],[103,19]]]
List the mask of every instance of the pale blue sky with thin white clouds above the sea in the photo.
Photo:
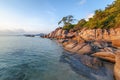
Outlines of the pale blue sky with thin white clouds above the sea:
[[88,18],[114,0],[0,0],[0,34],[49,33],[62,17]]

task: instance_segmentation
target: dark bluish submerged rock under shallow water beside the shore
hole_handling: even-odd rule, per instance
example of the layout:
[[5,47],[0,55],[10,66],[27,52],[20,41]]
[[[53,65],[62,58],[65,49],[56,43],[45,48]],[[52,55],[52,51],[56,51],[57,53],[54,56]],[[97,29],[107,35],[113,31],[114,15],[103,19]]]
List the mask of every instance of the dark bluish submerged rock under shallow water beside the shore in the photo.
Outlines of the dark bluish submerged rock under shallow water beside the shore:
[[108,69],[99,59],[87,55],[63,53],[61,61],[88,80],[114,80],[112,69]]

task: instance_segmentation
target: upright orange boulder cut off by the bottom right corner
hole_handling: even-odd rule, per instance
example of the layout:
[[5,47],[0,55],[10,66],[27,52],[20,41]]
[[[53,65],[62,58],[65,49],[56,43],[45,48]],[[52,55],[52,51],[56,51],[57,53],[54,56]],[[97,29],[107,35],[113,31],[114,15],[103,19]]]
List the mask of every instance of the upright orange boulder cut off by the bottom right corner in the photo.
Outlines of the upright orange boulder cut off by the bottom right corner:
[[116,80],[120,80],[120,52],[116,53],[114,66],[114,76]]

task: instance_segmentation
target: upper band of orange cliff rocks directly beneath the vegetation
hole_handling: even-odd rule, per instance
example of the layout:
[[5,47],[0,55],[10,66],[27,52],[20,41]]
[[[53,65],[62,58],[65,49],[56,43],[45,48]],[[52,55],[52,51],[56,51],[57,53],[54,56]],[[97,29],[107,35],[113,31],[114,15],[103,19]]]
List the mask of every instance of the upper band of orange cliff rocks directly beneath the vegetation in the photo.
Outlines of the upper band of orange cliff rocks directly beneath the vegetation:
[[78,37],[84,40],[106,40],[106,41],[114,41],[116,39],[120,39],[120,28],[116,29],[81,29],[79,32],[63,30],[62,28],[57,28],[55,31],[48,34],[46,37],[48,38],[56,38],[56,39],[65,39],[65,38],[73,38]]

